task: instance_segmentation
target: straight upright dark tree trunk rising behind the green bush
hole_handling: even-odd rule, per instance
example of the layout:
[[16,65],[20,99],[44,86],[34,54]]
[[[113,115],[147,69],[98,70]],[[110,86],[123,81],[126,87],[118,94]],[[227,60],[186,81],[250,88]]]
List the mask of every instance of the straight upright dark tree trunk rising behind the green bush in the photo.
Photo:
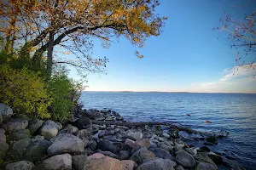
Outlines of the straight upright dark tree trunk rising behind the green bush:
[[53,46],[54,46],[54,32],[49,31],[49,47],[47,52],[47,77],[46,80],[49,81],[52,73],[52,58],[53,58]]

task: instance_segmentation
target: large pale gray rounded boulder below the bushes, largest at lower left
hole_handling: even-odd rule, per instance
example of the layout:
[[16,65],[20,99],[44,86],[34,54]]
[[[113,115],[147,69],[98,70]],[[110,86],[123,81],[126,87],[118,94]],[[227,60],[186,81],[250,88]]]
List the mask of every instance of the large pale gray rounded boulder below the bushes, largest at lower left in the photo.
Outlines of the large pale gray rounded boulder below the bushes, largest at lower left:
[[84,142],[70,133],[61,133],[55,139],[47,150],[50,156],[63,153],[80,153],[84,151]]

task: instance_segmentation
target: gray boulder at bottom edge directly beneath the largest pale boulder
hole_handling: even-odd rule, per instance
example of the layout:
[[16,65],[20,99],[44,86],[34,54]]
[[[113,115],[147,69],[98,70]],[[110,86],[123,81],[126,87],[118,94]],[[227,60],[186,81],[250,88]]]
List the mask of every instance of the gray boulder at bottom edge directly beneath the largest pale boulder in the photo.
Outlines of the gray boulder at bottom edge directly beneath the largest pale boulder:
[[69,154],[52,156],[40,163],[33,170],[71,170],[72,157]]

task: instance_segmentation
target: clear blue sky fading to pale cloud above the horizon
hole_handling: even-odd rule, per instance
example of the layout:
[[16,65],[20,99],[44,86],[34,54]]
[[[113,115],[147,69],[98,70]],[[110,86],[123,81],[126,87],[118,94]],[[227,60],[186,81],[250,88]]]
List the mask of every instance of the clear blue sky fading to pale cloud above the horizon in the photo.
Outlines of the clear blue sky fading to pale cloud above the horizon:
[[[237,71],[237,50],[219,38],[222,32],[212,31],[221,26],[224,11],[243,14],[244,9],[231,8],[230,2],[160,0],[157,13],[168,17],[161,35],[149,37],[144,48],[136,48],[124,37],[110,48],[95,42],[93,56],[106,56],[109,62],[105,73],[87,77],[85,90],[256,93],[256,71],[244,67]],[[143,59],[134,54],[137,49]],[[251,59],[254,54],[240,55]],[[75,71],[71,77],[78,78]]]

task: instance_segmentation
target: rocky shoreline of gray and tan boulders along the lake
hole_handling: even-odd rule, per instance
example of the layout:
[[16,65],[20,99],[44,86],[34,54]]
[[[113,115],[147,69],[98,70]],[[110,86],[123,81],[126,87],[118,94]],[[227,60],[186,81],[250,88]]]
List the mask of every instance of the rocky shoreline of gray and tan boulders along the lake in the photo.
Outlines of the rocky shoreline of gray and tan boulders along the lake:
[[244,169],[207,147],[218,144],[218,136],[202,136],[205,145],[198,148],[185,144],[180,130],[159,123],[129,124],[115,111],[93,109],[79,109],[72,122],[61,124],[13,115],[0,104],[0,169]]

